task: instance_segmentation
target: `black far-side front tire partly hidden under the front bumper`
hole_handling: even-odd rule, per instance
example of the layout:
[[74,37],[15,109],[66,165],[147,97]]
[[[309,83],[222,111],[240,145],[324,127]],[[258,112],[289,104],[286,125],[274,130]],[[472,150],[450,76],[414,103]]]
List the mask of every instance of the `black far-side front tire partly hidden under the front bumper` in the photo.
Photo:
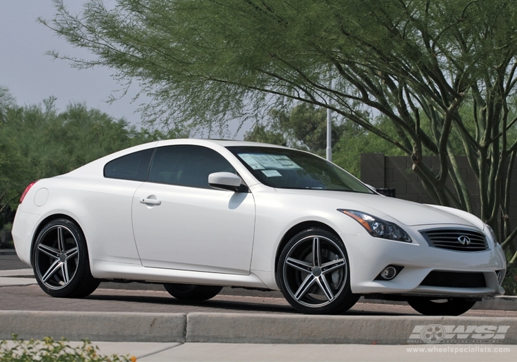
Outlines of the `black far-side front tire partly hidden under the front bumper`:
[[412,298],[407,301],[416,312],[425,316],[459,316],[476,304],[463,298],[433,300],[428,298]]

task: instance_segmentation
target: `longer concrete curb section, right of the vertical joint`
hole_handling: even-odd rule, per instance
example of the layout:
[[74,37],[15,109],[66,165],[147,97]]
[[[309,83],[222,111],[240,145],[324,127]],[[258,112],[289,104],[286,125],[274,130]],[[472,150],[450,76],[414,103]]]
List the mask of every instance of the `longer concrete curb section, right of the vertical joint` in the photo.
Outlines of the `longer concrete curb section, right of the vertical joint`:
[[187,342],[393,345],[408,343],[417,325],[477,326],[485,323],[509,325],[504,343],[517,343],[515,318],[446,316],[279,316],[195,312],[187,314],[186,336]]

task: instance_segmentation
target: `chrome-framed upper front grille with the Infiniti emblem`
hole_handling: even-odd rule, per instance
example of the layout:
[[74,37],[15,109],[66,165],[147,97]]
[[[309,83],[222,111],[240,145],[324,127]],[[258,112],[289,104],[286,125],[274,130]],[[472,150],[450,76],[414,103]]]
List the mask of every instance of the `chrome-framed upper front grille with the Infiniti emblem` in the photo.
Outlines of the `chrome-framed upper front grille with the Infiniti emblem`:
[[425,241],[433,248],[455,250],[457,252],[482,252],[488,249],[483,232],[471,229],[428,229],[420,230]]

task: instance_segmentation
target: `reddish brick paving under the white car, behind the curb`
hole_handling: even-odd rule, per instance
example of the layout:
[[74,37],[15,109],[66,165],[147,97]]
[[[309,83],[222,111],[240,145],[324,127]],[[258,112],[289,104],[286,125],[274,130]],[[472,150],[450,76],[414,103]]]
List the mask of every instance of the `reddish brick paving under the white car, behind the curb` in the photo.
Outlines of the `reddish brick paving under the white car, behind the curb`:
[[[246,292],[246,291],[244,291]],[[38,285],[0,288],[0,310],[148,313],[273,313],[298,314],[283,298],[220,294],[203,303],[185,303],[160,290],[96,290],[85,299],[57,299]],[[409,305],[356,303],[345,315],[419,315]],[[463,316],[517,317],[517,311],[470,310]]]

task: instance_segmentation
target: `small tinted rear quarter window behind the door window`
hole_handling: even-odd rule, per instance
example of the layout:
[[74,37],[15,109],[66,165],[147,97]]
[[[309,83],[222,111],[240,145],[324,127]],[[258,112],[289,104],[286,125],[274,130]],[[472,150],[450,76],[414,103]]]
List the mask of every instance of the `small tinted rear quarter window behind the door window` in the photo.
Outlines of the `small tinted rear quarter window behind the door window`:
[[104,177],[132,181],[147,180],[152,152],[154,152],[154,148],[126,154],[106,163]]

